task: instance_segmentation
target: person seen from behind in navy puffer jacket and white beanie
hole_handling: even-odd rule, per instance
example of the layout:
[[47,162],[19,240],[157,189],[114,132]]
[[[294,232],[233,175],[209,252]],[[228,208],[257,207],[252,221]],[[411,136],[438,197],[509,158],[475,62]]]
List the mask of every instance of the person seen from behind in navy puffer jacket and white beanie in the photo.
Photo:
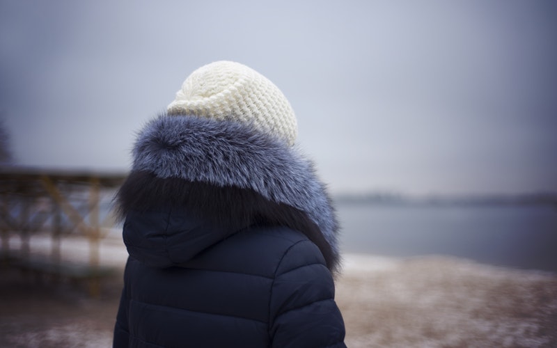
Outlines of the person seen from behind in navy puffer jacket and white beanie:
[[337,222],[288,100],[228,61],[193,72],[134,145],[114,347],[345,347]]

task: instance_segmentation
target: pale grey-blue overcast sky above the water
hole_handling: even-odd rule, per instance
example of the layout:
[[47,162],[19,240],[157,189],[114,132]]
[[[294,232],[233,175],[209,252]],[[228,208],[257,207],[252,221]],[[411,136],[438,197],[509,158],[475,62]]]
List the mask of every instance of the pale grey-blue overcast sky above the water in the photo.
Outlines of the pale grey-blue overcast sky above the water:
[[334,192],[557,191],[555,1],[0,0],[15,160],[127,171],[222,59],[281,88]]

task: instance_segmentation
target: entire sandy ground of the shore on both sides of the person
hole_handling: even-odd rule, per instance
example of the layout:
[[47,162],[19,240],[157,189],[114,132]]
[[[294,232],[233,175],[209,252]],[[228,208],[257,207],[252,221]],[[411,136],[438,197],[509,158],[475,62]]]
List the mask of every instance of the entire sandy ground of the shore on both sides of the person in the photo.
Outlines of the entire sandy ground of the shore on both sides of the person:
[[[33,243],[38,253],[49,248]],[[86,244],[65,243],[65,258],[87,259]],[[110,347],[127,254],[118,239],[108,239],[100,255],[103,264],[120,267],[99,299],[83,287],[36,283],[1,269],[0,346]],[[348,254],[336,300],[348,347],[557,347],[557,274],[548,272],[445,256]]]

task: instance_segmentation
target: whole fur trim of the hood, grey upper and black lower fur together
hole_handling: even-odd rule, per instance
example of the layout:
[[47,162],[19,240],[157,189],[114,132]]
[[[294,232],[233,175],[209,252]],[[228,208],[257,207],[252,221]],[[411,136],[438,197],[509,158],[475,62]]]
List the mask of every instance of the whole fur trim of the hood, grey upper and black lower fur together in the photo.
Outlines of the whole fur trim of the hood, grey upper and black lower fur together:
[[[201,216],[201,225],[219,232],[190,256],[237,230],[271,223],[304,232],[336,268],[334,209],[297,148],[238,122],[163,114],[139,133],[133,156],[132,173],[116,198],[120,214],[168,206]],[[128,239],[128,251],[137,243],[138,250],[148,249],[144,240]]]

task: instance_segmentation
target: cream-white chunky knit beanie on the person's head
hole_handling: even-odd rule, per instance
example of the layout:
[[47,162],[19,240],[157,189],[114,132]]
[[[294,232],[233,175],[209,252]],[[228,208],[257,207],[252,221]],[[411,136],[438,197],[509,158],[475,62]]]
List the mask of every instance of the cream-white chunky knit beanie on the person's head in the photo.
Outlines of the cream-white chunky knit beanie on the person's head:
[[240,63],[217,61],[187,77],[168,114],[237,120],[293,145],[297,121],[292,106],[269,79]]

